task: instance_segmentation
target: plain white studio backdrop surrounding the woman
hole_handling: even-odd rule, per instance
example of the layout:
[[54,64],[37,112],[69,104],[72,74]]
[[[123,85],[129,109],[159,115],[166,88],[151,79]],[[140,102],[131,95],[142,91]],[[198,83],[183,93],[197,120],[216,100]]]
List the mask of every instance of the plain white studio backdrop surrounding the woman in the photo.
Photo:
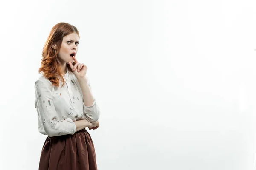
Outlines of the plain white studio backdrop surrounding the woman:
[[36,170],[34,83],[51,28],[78,28],[101,110],[99,170],[255,170],[256,2],[0,4],[1,170]]

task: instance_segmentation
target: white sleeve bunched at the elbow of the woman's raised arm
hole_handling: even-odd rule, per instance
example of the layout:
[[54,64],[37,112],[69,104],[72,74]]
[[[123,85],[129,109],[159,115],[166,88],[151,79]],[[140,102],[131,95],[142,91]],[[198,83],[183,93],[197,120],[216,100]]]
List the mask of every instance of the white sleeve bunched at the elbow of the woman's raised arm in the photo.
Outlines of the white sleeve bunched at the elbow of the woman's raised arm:
[[[93,94],[92,86],[90,85],[90,80],[87,76],[86,76],[86,79],[87,79],[87,83],[89,85],[90,92]],[[96,100],[94,99],[93,104],[91,106],[85,106],[84,102],[83,102],[83,106],[84,106],[84,116],[85,116],[85,118],[89,122],[96,122],[99,119],[99,116],[100,116],[100,110],[99,110],[99,107],[97,105]]]

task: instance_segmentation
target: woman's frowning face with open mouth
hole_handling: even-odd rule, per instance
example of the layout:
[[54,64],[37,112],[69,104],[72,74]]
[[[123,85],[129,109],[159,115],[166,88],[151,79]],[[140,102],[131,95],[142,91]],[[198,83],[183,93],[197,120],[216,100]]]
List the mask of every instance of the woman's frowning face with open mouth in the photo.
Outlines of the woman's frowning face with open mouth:
[[78,51],[78,44],[79,37],[76,33],[71,33],[63,37],[61,49],[58,53],[58,58],[60,59],[60,61],[65,63],[68,63],[70,61],[71,63],[73,63],[74,60],[71,56],[76,56],[76,53]]

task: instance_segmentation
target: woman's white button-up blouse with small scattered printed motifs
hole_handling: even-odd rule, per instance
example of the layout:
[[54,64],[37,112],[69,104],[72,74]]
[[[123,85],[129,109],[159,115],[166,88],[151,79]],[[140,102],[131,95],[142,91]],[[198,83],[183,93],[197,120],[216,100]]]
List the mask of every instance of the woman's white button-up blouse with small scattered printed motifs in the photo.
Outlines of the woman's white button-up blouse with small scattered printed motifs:
[[[59,87],[43,75],[35,81],[35,108],[38,113],[38,131],[48,136],[74,134],[73,121],[87,119],[96,122],[99,119],[99,107],[94,99],[92,106],[85,106],[83,94],[76,76],[67,70]],[[90,81],[86,76],[89,89]]]

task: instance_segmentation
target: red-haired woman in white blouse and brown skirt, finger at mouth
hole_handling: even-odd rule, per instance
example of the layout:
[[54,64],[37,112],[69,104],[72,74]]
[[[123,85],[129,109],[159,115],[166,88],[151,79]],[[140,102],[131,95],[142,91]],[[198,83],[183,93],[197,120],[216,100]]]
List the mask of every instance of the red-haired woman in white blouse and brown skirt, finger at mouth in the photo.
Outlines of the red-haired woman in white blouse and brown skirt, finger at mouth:
[[47,135],[39,170],[97,170],[93,141],[86,127],[99,127],[99,107],[86,65],[76,59],[79,32],[56,24],[44,45],[35,81],[38,130]]

